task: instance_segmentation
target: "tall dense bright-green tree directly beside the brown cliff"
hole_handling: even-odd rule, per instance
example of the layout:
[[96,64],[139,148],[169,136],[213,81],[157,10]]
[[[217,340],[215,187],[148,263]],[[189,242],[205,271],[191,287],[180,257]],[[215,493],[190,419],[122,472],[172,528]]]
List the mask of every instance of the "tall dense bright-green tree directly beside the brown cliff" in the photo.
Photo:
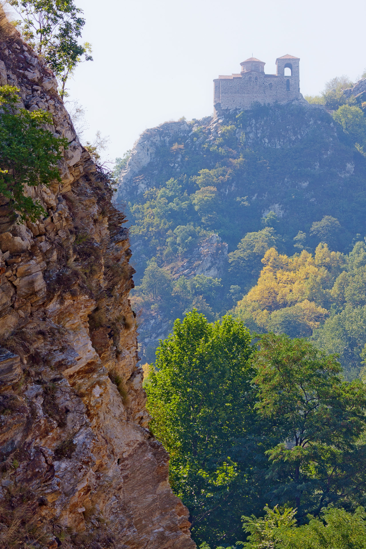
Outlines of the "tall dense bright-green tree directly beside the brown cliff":
[[233,536],[249,500],[255,451],[241,465],[232,452],[235,440],[253,434],[251,352],[242,322],[225,316],[210,324],[193,311],[161,341],[146,386],[150,426],[170,453],[172,489],[189,508],[198,542]]

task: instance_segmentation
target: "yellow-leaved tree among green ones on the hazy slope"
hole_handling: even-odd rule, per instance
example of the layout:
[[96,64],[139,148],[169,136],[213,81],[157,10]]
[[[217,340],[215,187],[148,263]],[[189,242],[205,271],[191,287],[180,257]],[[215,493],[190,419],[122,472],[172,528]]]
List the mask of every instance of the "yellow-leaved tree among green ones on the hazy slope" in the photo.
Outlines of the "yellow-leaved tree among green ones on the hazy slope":
[[270,248],[262,264],[257,284],[238,302],[234,316],[258,332],[308,337],[329,316],[331,290],[346,267],[345,256],[320,243],[314,256],[303,250],[288,257]]

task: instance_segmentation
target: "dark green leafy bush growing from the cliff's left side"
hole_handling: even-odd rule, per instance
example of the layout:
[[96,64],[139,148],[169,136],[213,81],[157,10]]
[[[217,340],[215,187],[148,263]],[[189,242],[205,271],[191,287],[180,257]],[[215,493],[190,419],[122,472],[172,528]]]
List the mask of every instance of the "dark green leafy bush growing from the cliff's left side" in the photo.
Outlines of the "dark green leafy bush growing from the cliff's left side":
[[34,221],[46,212],[26,188],[61,181],[57,162],[68,143],[44,129],[53,123],[49,113],[19,109],[18,93],[13,86],[0,87],[0,193],[21,220]]

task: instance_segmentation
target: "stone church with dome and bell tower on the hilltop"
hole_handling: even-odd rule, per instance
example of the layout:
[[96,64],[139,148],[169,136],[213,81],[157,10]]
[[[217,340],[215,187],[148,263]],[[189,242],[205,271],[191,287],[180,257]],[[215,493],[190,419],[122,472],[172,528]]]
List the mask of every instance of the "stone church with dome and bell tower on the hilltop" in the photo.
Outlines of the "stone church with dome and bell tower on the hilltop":
[[266,63],[255,57],[246,59],[240,63],[240,72],[213,81],[215,110],[250,109],[253,103],[284,104],[302,99],[299,61],[294,55],[283,55],[276,59],[276,74],[266,74]]

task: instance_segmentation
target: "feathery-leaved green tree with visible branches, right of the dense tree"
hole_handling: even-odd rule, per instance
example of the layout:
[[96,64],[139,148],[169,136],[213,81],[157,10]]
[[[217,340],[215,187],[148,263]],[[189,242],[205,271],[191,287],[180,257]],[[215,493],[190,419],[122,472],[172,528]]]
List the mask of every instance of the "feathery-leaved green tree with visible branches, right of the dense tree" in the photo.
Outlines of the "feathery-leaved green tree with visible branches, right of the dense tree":
[[[303,339],[262,335],[254,358],[256,409],[280,444],[267,451],[268,495],[295,503],[298,518],[363,497],[366,386],[344,382],[341,365]],[[351,503],[352,502],[352,503]]]

